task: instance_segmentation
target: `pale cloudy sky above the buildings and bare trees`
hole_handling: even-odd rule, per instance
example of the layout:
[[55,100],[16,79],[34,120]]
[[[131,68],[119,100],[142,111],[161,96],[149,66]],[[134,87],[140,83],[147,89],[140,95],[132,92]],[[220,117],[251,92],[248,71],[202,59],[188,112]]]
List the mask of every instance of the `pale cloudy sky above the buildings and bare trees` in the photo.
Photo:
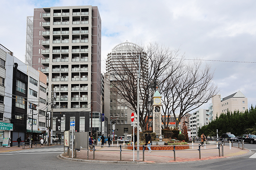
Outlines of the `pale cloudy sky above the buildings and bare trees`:
[[248,107],[256,105],[255,0],[0,0],[0,44],[25,62],[34,8],[86,5],[98,6],[102,19],[103,73],[119,43],[158,43],[211,65],[222,98],[241,91]]

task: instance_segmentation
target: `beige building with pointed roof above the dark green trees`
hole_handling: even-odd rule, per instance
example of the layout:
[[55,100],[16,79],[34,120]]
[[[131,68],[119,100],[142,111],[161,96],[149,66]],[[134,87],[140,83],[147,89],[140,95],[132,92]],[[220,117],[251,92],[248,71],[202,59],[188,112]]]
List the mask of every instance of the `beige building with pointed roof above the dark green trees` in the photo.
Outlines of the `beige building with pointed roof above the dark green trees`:
[[221,98],[220,94],[212,97],[212,113],[213,119],[215,119],[217,113],[218,116],[221,113],[227,113],[227,111],[242,111],[248,109],[247,98],[241,91],[231,94],[227,97]]

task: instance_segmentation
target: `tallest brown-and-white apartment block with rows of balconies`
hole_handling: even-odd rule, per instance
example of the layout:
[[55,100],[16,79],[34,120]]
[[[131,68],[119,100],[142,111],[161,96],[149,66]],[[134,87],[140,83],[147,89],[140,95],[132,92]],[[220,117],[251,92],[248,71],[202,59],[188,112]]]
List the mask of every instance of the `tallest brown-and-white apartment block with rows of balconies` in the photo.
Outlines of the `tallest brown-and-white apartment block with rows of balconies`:
[[[56,92],[53,132],[69,130],[71,120],[75,121],[77,132],[90,131],[93,105],[93,131],[100,133],[101,18],[98,8],[35,8],[32,64],[47,75],[46,102],[52,100],[52,91]],[[58,121],[60,119],[62,121]]]

